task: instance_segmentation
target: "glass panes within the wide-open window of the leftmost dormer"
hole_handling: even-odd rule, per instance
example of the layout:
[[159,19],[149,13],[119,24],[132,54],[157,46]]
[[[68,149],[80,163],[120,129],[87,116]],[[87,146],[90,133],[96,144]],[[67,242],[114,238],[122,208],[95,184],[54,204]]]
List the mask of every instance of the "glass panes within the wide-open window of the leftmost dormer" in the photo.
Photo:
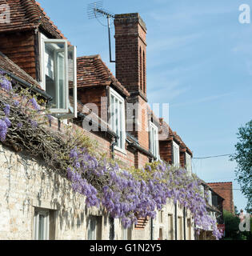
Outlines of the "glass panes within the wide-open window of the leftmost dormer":
[[66,109],[65,44],[45,42],[46,93],[52,108]]

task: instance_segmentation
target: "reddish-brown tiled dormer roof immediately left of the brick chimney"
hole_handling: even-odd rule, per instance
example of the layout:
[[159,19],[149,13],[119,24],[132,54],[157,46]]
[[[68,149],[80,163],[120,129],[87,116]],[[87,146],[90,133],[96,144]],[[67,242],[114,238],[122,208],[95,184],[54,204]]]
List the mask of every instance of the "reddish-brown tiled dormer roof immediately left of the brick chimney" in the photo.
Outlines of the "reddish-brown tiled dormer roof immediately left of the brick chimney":
[[77,86],[78,88],[90,86],[113,85],[122,94],[130,96],[128,91],[102,62],[100,55],[83,56],[77,58]]

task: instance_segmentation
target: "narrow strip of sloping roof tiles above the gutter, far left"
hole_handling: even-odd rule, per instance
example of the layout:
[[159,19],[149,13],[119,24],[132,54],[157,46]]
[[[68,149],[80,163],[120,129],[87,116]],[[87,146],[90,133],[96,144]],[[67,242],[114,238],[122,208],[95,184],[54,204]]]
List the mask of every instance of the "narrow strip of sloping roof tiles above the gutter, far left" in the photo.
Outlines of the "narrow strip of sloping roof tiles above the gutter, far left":
[[16,65],[14,62],[10,60],[10,58],[7,58],[6,55],[2,54],[0,52],[0,69],[14,74],[16,77],[21,78],[22,80],[29,82],[30,85],[36,86],[41,89],[39,83],[34,80],[29,74],[26,73],[26,71],[22,70],[18,65]]

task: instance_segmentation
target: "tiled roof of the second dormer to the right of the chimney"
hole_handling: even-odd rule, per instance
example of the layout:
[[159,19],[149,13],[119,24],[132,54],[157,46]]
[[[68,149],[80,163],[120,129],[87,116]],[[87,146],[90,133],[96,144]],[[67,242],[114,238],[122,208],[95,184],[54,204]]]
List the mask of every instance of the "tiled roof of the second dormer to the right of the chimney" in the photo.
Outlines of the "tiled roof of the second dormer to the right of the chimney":
[[166,141],[169,139],[175,139],[179,145],[186,149],[191,155],[193,155],[192,151],[186,146],[186,144],[182,141],[182,138],[173,130],[170,129],[170,126],[163,120],[163,118],[159,118],[160,121],[160,133],[158,134],[159,141]]

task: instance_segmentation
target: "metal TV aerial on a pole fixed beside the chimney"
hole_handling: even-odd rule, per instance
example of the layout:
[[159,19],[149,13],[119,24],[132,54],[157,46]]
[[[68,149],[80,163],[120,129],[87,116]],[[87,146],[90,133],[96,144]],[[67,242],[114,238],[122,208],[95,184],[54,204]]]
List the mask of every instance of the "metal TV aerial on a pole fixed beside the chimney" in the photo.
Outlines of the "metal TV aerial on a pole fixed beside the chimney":
[[[103,6],[103,1],[98,1],[98,2],[92,2],[87,5],[87,16],[89,19],[91,18],[98,18],[100,17],[106,17],[107,19],[107,27],[108,27],[108,34],[109,34],[109,48],[110,48],[110,62],[115,62],[112,60],[111,57],[111,38],[110,38],[110,19],[114,18],[114,14],[109,13],[107,10],[102,8]],[[98,20],[99,22],[99,20]],[[102,24],[101,22],[99,22]],[[102,26],[105,26],[102,24]]]

